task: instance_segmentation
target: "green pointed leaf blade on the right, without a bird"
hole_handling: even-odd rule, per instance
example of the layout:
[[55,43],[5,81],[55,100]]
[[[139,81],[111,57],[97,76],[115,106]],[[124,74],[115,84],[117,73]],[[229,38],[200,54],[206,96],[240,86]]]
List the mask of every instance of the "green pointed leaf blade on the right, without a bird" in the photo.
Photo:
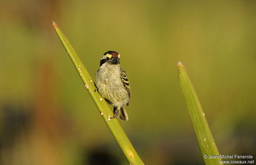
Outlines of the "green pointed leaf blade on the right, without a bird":
[[218,155],[218,148],[213,140],[212,133],[206,122],[204,112],[196,96],[194,87],[188,77],[188,74],[184,66],[178,62],[178,77],[180,81],[180,87],[185,98],[185,102],[188,108],[189,117],[196,134],[196,139],[204,159],[204,163],[208,164],[220,164],[220,158],[205,158],[207,155]]

